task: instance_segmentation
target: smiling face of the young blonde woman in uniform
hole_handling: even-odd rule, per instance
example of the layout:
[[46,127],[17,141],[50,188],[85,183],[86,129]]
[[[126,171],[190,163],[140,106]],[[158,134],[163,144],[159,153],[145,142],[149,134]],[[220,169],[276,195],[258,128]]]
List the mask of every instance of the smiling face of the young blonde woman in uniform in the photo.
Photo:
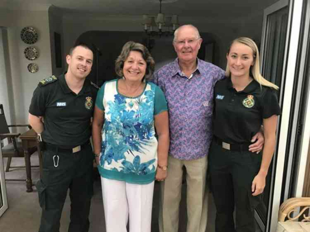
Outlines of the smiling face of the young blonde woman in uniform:
[[226,55],[227,65],[232,77],[249,77],[250,68],[254,65],[252,49],[242,43],[234,42]]

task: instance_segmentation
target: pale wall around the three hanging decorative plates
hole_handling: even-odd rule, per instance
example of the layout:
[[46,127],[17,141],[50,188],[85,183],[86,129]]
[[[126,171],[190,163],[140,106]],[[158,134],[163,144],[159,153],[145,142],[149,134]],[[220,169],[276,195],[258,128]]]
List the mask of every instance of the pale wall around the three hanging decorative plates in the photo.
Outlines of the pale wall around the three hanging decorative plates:
[[[7,27],[10,70],[8,78],[12,90],[8,98],[14,99],[11,110],[12,123],[26,123],[28,108],[33,90],[38,82],[51,75],[51,50],[47,9],[44,11],[0,9],[0,26]],[[24,57],[24,49],[30,45],[20,39],[20,31],[26,26],[34,27],[39,33],[38,41],[33,44],[40,53],[37,63],[39,71],[30,73],[27,65],[32,63]]]

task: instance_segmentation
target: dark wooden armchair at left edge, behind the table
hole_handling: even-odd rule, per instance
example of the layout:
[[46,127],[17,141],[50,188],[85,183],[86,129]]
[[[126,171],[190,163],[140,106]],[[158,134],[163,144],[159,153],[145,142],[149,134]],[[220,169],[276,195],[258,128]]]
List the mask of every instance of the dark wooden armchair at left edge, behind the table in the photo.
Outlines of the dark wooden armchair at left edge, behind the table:
[[[7,125],[7,120],[5,119],[3,105],[0,104],[0,140],[7,139],[8,144],[2,147],[2,156],[7,157],[7,166],[5,171],[8,172],[11,165],[11,160],[13,157],[24,157],[24,149],[21,142],[17,141],[17,138],[20,136],[20,133],[11,133],[9,127],[28,127],[31,129],[30,125]],[[29,154],[33,154],[37,151],[37,147],[32,147],[29,149]],[[24,168],[25,166],[18,166],[17,168]],[[10,179],[15,181],[24,181],[20,179]]]

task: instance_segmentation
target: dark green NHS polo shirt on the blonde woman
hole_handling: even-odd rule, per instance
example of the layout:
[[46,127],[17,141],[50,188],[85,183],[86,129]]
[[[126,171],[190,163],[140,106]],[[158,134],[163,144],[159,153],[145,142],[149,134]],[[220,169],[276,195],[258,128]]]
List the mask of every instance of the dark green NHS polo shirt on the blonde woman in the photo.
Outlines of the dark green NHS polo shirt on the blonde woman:
[[263,119],[281,114],[277,91],[255,80],[239,92],[233,88],[231,78],[218,81],[214,101],[214,135],[227,143],[250,142]]

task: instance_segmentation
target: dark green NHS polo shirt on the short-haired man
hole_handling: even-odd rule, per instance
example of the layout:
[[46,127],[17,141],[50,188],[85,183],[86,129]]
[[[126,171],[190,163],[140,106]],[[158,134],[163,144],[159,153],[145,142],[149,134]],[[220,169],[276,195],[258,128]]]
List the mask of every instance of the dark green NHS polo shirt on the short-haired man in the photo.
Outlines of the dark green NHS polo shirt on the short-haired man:
[[98,87],[87,78],[75,94],[64,74],[40,81],[34,90],[29,113],[44,117],[44,142],[72,148],[87,142],[91,136],[91,117]]

